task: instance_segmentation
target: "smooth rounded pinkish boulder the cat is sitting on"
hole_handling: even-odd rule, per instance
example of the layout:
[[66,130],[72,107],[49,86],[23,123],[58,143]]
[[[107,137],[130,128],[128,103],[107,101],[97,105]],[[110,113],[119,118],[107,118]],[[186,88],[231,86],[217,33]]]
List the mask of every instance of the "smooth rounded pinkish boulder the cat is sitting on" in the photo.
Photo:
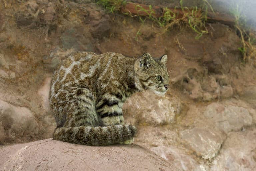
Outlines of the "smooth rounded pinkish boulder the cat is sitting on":
[[0,170],[180,171],[138,145],[83,146],[52,139],[0,146]]

